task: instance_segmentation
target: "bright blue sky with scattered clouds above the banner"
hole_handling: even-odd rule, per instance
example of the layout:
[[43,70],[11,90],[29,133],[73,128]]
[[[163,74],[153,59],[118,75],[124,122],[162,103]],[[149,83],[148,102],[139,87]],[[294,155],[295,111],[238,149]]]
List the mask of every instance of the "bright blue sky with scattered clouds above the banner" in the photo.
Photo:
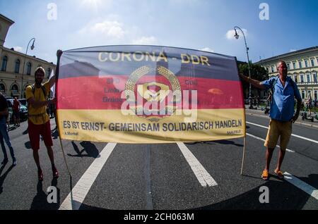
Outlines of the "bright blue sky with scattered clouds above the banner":
[[[53,3],[57,19],[49,20]],[[260,20],[261,3],[269,20]],[[0,0],[0,13],[15,21],[4,46],[56,63],[57,49],[114,44],[153,44],[206,49],[252,62],[318,45],[317,0]],[[227,35],[228,34],[228,35]]]

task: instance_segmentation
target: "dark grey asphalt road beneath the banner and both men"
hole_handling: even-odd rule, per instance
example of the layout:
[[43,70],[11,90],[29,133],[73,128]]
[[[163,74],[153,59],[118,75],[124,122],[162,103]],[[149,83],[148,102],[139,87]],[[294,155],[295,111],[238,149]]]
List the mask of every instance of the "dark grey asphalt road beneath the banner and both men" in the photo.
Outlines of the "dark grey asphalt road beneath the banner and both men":
[[[286,153],[282,169],[298,178],[295,185],[274,175],[269,181],[260,178],[265,163],[265,147],[261,139],[265,139],[265,127],[269,123],[269,118],[260,111],[247,110],[248,135],[243,175],[240,175],[243,139],[184,144],[197,160],[190,163],[191,156],[186,158],[178,144],[116,144],[105,157],[107,143],[63,140],[72,175],[70,179],[57,131],[54,130],[54,119],[51,123],[59,179],[52,178],[49,158],[41,142],[44,181],[37,181],[27,123],[21,123],[20,127],[9,132],[18,165],[13,167],[9,161],[0,169],[0,209],[61,209],[63,203],[67,204],[66,198],[71,189],[76,187],[81,189],[83,198],[78,204],[80,210],[318,209],[318,129],[315,127],[299,123],[293,125],[293,134],[298,136],[290,139],[290,151]],[[277,156],[278,149],[271,163],[272,174]],[[100,163],[102,159],[104,163]],[[91,164],[98,161],[100,170],[94,165],[92,171]],[[210,178],[217,185],[203,186],[198,172],[201,178]],[[95,179],[90,182],[87,175],[95,175]],[[84,180],[86,184],[90,182],[86,186],[86,194],[83,193]],[[57,203],[47,202],[49,186],[57,187]],[[259,201],[262,186],[269,189],[269,203]],[[305,192],[306,187],[316,190],[312,192],[313,196]],[[72,195],[76,197],[76,194]]]

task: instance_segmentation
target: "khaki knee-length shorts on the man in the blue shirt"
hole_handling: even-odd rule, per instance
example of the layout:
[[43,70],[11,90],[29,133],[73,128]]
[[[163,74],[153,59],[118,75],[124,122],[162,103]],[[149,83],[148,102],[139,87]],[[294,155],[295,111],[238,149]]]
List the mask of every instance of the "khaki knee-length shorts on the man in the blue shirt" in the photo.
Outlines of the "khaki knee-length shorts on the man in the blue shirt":
[[290,139],[290,135],[292,133],[292,123],[291,121],[278,121],[278,120],[270,120],[269,121],[269,131],[267,132],[267,137],[264,146],[269,149],[273,149],[276,147],[278,142],[278,137],[281,136],[281,150],[286,150],[287,145]]

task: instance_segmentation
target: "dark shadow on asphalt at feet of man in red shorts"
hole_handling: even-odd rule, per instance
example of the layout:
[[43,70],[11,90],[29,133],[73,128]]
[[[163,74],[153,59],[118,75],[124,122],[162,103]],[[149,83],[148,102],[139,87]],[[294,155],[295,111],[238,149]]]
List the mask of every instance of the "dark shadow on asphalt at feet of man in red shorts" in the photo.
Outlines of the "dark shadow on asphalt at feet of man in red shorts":
[[[53,178],[51,186],[57,187],[57,179]],[[46,189],[45,189],[46,190]],[[52,199],[52,191],[46,194],[43,191],[42,181],[37,182],[37,194],[33,198],[30,210],[57,210],[59,209],[60,204],[60,190],[57,187],[57,203],[49,203],[47,197],[49,196]],[[52,196],[52,197],[51,197]]]

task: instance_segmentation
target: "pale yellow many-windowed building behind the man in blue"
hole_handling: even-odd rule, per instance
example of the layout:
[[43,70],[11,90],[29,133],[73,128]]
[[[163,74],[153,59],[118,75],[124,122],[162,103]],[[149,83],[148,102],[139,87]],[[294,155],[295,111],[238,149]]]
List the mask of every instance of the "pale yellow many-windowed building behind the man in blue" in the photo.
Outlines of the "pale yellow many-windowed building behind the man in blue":
[[281,60],[287,64],[288,76],[297,83],[302,101],[310,95],[312,99],[317,99],[318,46],[267,58],[257,64],[266,68],[269,77],[272,77],[278,75],[277,63]]

